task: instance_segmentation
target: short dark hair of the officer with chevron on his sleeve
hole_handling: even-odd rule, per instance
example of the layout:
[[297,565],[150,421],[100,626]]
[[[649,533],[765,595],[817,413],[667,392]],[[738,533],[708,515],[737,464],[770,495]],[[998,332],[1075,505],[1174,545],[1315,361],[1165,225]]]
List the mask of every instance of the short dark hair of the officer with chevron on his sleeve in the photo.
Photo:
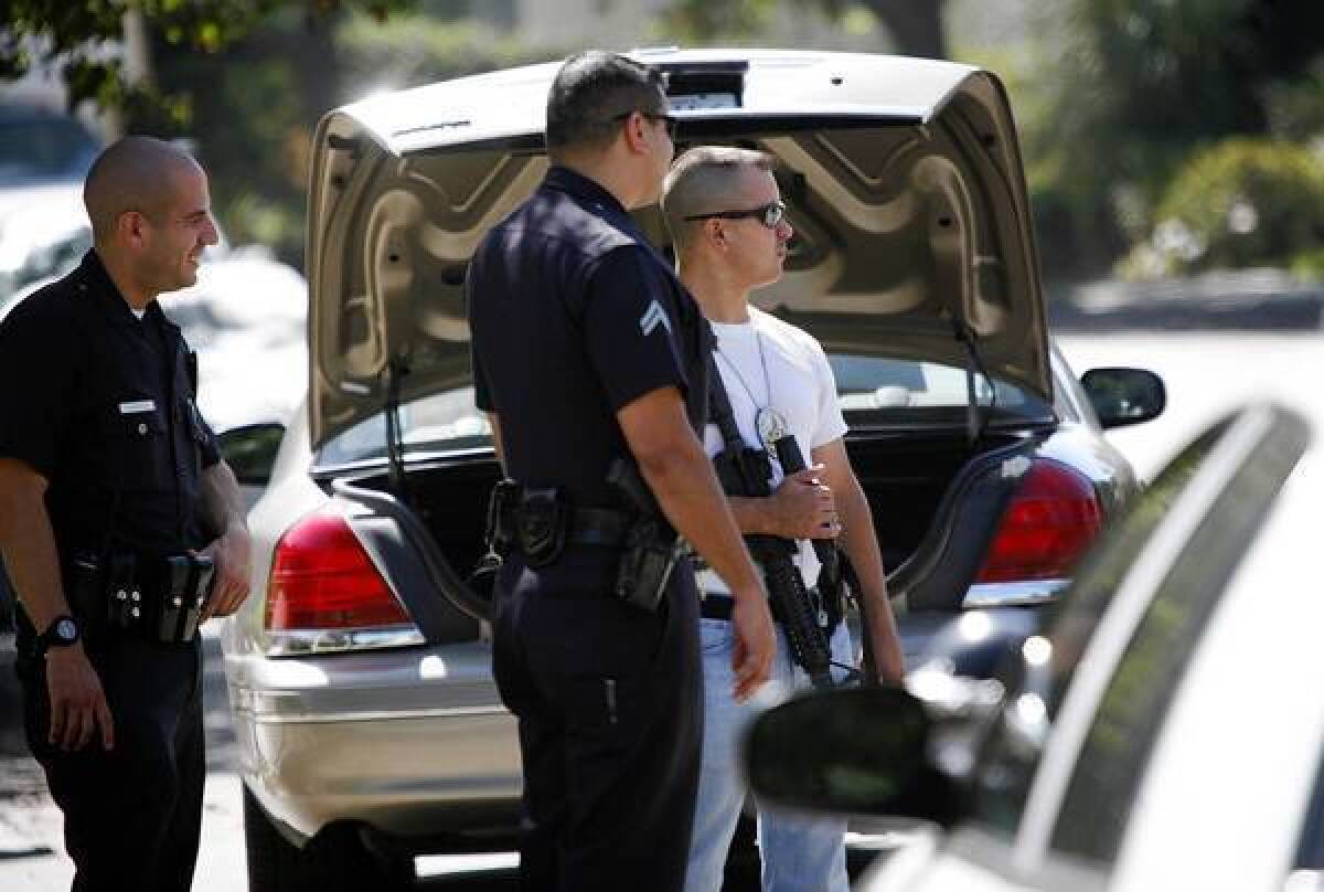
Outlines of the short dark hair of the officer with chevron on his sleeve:
[[666,114],[659,70],[600,49],[571,56],[547,91],[548,155],[610,144],[630,111]]

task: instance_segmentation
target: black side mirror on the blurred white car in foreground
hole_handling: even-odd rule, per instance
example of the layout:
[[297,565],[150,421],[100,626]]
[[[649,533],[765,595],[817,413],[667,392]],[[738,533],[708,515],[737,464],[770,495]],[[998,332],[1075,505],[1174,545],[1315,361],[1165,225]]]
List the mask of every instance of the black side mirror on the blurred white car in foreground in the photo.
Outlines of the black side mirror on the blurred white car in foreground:
[[745,736],[749,786],[793,808],[947,824],[952,786],[929,765],[929,728],[923,704],[899,688],[797,697]]

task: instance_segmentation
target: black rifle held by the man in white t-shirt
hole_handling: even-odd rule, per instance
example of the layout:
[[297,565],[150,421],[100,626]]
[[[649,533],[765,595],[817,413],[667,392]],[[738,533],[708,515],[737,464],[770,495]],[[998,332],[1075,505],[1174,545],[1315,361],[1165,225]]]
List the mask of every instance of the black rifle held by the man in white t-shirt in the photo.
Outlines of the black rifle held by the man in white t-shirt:
[[[724,445],[723,452],[714,459],[722,488],[732,496],[771,496],[772,461],[764,449],[748,448],[740,436],[735,414],[731,410],[731,398],[722,383],[722,372],[711,353],[708,354],[708,382],[710,415],[722,432]],[[790,443],[785,443],[786,440]],[[790,436],[777,440],[776,447],[779,457],[782,449],[793,451],[793,453],[788,452],[792,459],[800,456],[800,448]],[[804,468],[802,456],[800,456],[800,465]],[[785,461],[782,461],[782,468],[786,473],[794,473]],[[814,603],[813,595],[805,588],[800,567],[792,559],[798,553],[798,546],[794,539],[764,534],[747,535],[745,543],[749,547],[749,554],[763,567],[768,595],[781,619],[786,643],[790,645],[792,660],[805,671],[816,688],[830,688],[833,685],[831,649],[820,624],[822,608]]]

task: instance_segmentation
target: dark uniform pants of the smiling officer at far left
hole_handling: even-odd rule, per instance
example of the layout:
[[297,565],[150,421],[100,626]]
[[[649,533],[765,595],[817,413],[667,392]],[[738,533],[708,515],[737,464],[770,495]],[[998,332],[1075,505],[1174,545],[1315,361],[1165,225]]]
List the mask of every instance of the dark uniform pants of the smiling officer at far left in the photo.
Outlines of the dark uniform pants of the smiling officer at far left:
[[73,892],[183,892],[193,883],[207,774],[200,640],[87,644],[115,722],[109,753],[97,736],[65,753],[48,742],[45,663],[20,660],[28,745],[65,815]]

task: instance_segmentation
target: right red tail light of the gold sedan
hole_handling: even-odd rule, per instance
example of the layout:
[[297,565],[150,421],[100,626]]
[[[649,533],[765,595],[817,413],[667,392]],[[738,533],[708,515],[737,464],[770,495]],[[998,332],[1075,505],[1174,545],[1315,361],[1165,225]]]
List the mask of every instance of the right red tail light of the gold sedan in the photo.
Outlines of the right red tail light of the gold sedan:
[[976,582],[1062,579],[1103,526],[1094,485],[1037,459],[1002,514]]

